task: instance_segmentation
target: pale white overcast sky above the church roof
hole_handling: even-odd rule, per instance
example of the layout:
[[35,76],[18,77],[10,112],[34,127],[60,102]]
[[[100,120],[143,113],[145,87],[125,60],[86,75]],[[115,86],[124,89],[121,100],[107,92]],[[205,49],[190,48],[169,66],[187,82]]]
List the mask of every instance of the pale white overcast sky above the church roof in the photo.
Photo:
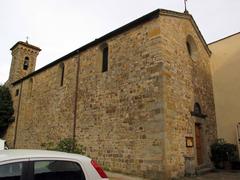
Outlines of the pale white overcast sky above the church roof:
[[[184,0],[1,0],[0,83],[8,79],[10,48],[26,41],[42,49],[37,67],[68,54],[155,9],[184,11]],[[240,0],[188,0],[207,43],[240,31]]]

